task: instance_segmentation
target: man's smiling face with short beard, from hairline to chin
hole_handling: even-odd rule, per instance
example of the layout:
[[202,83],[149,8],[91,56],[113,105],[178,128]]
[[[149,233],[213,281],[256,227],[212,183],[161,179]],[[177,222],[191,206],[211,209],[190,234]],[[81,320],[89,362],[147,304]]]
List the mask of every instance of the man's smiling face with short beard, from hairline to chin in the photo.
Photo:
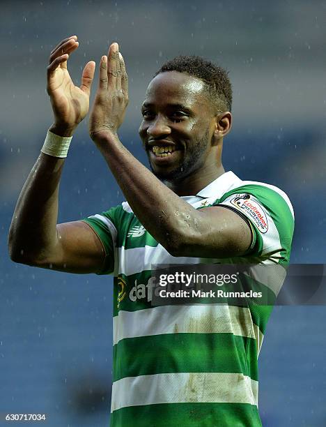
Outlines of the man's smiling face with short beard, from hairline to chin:
[[176,71],[160,73],[150,82],[141,110],[139,135],[158,178],[178,181],[205,167],[216,110],[202,80]]

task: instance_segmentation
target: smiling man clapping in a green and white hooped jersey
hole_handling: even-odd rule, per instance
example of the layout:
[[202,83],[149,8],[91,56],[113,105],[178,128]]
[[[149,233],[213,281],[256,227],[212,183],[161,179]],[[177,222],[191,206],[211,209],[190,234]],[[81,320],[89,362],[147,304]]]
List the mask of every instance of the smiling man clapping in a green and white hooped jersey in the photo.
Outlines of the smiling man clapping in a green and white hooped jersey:
[[16,262],[72,273],[114,273],[112,426],[261,426],[257,357],[269,307],[152,305],[153,264],[288,263],[293,209],[278,188],[224,172],[231,129],[226,72],[198,57],[166,63],[150,82],[139,135],[150,172],[117,130],[127,106],[118,45],[100,61],[91,138],[127,202],[56,225],[70,137],[88,112],[95,63],[70,80],[77,37],[52,51],[54,124],[10,227]]

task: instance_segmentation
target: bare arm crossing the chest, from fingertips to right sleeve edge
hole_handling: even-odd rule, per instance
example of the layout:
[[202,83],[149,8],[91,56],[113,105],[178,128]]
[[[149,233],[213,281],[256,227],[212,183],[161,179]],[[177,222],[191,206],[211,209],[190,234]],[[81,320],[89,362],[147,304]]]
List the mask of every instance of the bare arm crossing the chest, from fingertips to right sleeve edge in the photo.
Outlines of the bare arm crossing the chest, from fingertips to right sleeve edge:
[[90,118],[97,144],[135,215],[175,256],[230,257],[247,252],[249,225],[223,207],[196,210],[125,149],[117,130],[127,106],[127,74],[118,45],[100,63],[100,83]]

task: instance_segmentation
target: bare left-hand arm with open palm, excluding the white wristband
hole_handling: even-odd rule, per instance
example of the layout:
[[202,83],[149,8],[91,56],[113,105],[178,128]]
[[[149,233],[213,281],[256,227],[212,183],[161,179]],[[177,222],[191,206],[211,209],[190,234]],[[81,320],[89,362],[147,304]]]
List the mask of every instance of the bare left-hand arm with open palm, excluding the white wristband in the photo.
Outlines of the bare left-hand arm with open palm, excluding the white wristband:
[[[95,63],[88,62],[81,87],[75,87],[67,70],[77,37],[54,48],[47,68],[47,91],[54,110],[50,130],[71,136],[88,112]],[[82,221],[56,225],[63,158],[40,153],[22,189],[9,231],[9,252],[15,262],[75,273],[98,271],[104,250],[91,227]]]

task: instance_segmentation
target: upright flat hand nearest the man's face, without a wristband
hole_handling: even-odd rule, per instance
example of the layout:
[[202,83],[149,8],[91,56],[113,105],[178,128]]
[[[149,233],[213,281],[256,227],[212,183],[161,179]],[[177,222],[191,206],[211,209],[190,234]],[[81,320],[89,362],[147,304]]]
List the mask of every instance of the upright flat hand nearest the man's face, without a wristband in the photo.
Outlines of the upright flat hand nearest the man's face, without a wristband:
[[95,142],[116,135],[128,104],[128,76],[118,49],[118,43],[112,43],[100,62],[98,91],[89,119],[89,133]]

